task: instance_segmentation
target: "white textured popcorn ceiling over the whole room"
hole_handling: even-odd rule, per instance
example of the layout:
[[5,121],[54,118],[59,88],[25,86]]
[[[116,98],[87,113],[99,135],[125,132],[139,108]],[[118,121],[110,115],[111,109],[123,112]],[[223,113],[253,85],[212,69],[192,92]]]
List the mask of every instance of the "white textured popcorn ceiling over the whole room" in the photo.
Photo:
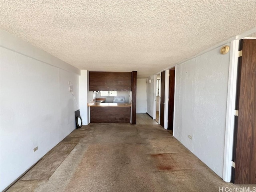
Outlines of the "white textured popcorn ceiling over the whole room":
[[79,68],[148,77],[256,27],[256,0],[0,0],[1,28]]

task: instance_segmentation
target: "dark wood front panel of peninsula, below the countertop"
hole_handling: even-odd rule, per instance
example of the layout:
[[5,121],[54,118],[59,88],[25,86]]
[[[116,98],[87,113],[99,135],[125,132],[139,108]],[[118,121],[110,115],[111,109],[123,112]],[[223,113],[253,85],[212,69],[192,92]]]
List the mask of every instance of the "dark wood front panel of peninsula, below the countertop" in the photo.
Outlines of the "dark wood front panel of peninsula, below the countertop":
[[130,107],[90,107],[91,123],[130,123]]

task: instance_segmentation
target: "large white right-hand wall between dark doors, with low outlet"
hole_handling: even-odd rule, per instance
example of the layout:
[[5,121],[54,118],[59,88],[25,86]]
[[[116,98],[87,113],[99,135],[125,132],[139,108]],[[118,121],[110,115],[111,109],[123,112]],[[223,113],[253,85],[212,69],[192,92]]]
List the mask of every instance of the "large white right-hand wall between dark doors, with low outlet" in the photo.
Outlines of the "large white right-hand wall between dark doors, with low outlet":
[[229,59],[218,47],[176,68],[174,137],[221,178]]

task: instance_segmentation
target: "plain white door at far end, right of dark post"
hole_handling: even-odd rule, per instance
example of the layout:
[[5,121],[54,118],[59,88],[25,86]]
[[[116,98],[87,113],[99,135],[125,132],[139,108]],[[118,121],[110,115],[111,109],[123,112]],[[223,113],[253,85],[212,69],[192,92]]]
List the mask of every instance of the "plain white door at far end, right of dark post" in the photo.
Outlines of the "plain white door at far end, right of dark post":
[[136,113],[146,113],[147,78],[137,78]]

